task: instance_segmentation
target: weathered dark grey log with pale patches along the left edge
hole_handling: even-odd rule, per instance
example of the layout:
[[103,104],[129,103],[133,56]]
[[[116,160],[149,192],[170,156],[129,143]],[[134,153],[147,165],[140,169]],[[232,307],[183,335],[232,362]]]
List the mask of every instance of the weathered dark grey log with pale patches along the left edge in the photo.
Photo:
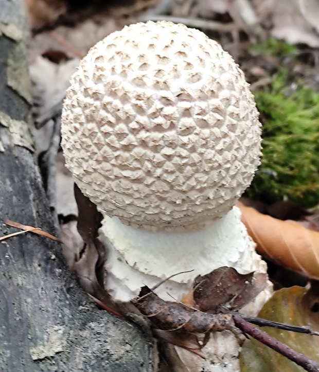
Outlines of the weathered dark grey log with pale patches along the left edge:
[[[7,218],[56,235],[28,132],[28,26],[22,0],[0,0],[0,236]],[[154,371],[153,340],[98,310],[59,243],[31,233],[0,243],[1,371]]]

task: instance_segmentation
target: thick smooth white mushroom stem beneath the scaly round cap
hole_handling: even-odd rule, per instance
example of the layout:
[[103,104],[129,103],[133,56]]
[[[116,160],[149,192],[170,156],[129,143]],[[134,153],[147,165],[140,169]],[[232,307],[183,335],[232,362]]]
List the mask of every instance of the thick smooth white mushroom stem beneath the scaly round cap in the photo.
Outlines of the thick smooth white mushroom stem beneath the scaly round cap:
[[118,300],[136,297],[144,285],[153,287],[171,275],[156,290],[165,300],[181,300],[193,279],[229,266],[239,273],[265,273],[267,265],[255,252],[255,243],[234,207],[204,229],[191,232],[150,232],[105,217],[100,239],[108,247],[105,263],[107,289]]

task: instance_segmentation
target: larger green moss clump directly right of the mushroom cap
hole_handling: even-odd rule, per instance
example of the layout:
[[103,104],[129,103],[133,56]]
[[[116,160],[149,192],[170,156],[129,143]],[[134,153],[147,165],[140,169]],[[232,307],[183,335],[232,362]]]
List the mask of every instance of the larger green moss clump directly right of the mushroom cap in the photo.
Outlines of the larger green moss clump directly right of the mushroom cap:
[[269,90],[255,92],[263,157],[247,195],[268,203],[287,197],[311,207],[319,201],[319,92],[292,84],[289,93],[289,78],[280,70]]

